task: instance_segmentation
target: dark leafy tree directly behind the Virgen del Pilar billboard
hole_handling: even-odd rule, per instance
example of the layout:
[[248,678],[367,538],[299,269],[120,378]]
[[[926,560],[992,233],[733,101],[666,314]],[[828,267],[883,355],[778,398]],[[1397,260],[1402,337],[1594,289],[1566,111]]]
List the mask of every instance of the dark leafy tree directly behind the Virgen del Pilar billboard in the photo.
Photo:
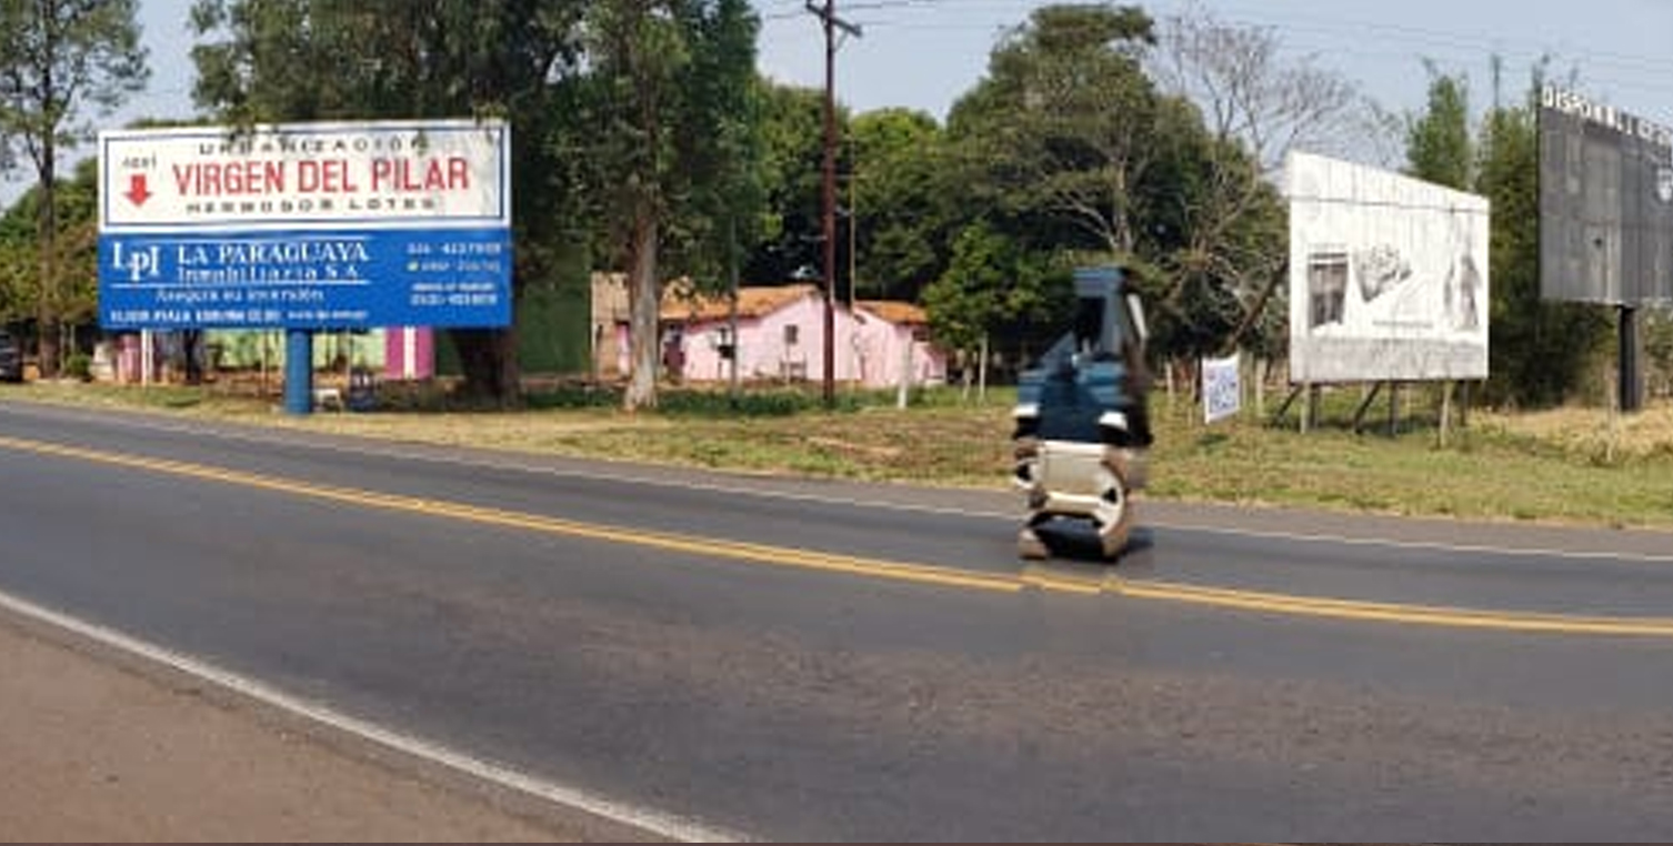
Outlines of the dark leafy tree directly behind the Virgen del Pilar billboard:
[[[544,278],[584,209],[560,191],[586,0],[197,0],[194,97],[231,125],[504,117],[512,125],[514,289]],[[453,329],[465,391],[520,400],[514,329]]]

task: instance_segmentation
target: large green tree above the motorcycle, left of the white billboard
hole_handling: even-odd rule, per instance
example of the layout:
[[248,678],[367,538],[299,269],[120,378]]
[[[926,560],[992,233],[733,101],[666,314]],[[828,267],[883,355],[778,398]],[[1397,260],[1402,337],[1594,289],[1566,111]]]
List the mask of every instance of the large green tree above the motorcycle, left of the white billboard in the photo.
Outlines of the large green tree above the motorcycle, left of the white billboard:
[[987,192],[974,206],[1031,252],[1126,264],[1158,304],[1159,354],[1220,353],[1245,334],[1270,346],[1282,204],[1243,124],[1211,132],[1184,94],[1156,89],[1153,42],[1138,8],[1037,10],[954,107],[955,161]]

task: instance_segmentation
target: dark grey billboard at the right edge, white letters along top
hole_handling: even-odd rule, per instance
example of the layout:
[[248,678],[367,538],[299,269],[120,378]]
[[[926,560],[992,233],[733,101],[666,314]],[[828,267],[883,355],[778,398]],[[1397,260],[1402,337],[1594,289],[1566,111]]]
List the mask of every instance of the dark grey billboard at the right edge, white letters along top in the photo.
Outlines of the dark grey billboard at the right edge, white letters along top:
[[1673,129],[1541,89],[1539,291],[1581,303],[1673,301]]

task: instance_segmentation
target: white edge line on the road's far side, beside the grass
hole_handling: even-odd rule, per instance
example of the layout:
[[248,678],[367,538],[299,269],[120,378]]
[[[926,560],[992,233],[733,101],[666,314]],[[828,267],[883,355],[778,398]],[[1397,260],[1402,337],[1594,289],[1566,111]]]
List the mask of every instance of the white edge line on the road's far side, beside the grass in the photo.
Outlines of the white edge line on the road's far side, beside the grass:
[[[52,406],[60,410],[60,406]],[[65,410],[67,411],[67,410]],[[72,411],[74,416],[74,411]],[[110,423],[105,418],[95,418],[100,423]],[[228,440],[228,441],[244,441],[244,443],[269,443],[278,446],[298,446],[296,440],[283,438],[281,435],[268,435],[266,431],[223,431],[206,425],[192,423],[172,423],[161,420],[136,421],[127,418],[120,425],[149,428],[154,431],[171,431],[176,435],[206,435],[211,438]],[[291,430],[286,430],[291,431]],[[321,435],[306,430],[294,430],[299,435]],[[589,482],[624,482],[631,485],[657,485],[666,488],[696,490],[704,493],[726,493],[726,495],[744,495],[760,497],[766,500],[790,500],[790,502],[811,502],[820,505],[847,505],[855,508],[880,508],[890,512],[908,512],[908,513],[930,513],[930,515],[947,515],[947,517],[980,517],[990,520],[1021,520],[1022,508],[1019,507],[1016,513],[1007,512],[982,512],[982,510],[965,510],[965,508],[947,508],[937,505],[913,505],[902,502],[865,502],[848,497],[823,497],[818,493],[795,493],[783,490],[761,490],[748,485],[723,485],[714,482],[673,482],[666,478],[649,478],[632,473],[609,473],[597,470],[574,470],[574,468],[555,468],[555,466],[527,466],[514,465],[509,461],[482,460],[482,458],[460,458],[445,455],[425,455],[417,451],[405,451],[398,446],[390,446],[388,441],[380,441],[378,438],[358,438],[365,441],[365,450],[350,448],[348,445],[338,443],[301,443],[310,450],[333,451],[333,453],[368,453],[378,455],[381,458],[398,458],[403,461],[423,461],[430,465],[452,465],[452,466],[468,466],[499,471],[515,471],[529,475],[559,477],[559,478],[584,478]],[[428,445],[438,450],[460,448],[447,445]],[[468,446],[465,446],[468,448]],[[681,468],[681,470],[698,470],[701,468]],[[1673,563],[1673,555],[1655,555],[1645,552],[1608,552],[1608,550],[1553,550],[1539,547],[1487,547],[1472,543],[1442,543],[1435,540],[1392,540],[1392,538],[1350,538],[1345,535],[1305,535],[1297,532],[1261,532],[1253,528],[1225,528],[1225,527],[1206,527],[1193,523],[1168,523],[1168,522],[1144,522],[1144,525],[1171,530],[1186,532],[1206,532],[1215,535],[1230,537],[1248,537],[1263,540],[1298,540],[1303,543],[1343,543],[1350,547],[1389,547],[1404,550],[1430,550],[1430,552],[1466,552],[1466,553],[1486,553],[1486,555],[1529,555],[1529,557],[1546,557],[1546,558],[1571,558],[1571,560],[1618,560],[1630,563]]]

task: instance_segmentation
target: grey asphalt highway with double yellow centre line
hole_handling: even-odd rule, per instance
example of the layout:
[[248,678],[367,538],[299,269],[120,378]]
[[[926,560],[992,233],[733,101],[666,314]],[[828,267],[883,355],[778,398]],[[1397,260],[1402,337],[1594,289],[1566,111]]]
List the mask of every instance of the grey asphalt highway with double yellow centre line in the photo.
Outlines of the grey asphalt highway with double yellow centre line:
[[997,490],[17,401],[0,480],[13,609],[666,834],[1673,833],[1661,533],[1146,503],[1022,567]]

